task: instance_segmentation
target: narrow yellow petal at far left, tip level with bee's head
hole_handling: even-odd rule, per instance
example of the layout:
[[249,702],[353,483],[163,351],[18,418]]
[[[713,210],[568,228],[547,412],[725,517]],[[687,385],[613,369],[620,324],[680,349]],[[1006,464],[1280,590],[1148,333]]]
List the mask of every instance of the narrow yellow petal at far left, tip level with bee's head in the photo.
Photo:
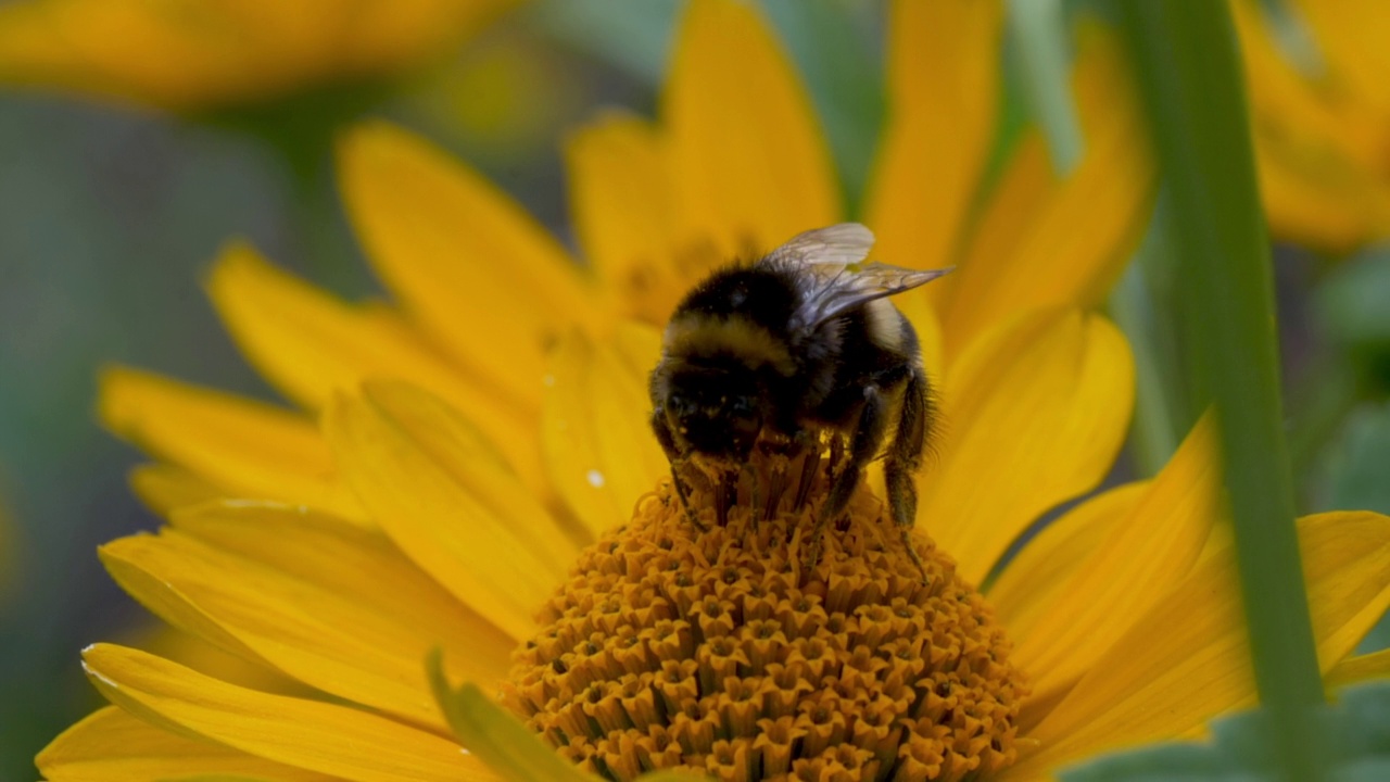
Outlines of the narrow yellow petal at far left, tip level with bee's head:
[[101,374],[99,398],[111,431],[234,495],[311,502],[363,518],[336,486],[332,455],[303,416],[125,367]]

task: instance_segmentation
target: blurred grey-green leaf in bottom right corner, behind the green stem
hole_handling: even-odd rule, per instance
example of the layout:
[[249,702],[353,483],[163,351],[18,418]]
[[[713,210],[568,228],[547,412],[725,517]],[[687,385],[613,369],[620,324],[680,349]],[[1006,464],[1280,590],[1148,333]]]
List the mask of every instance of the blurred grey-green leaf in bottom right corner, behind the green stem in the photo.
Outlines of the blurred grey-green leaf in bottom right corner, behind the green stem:
[[[1251,711],[1212,724],[1211,740],[1170,743],[1113,754],[1066,769],[1063,782],[1275,782],[1277,757],[1265,721]],[[1318,710],[1329,737],[1329,782],[1390,779],[1390,682],[1346,690],[1341,703]]]

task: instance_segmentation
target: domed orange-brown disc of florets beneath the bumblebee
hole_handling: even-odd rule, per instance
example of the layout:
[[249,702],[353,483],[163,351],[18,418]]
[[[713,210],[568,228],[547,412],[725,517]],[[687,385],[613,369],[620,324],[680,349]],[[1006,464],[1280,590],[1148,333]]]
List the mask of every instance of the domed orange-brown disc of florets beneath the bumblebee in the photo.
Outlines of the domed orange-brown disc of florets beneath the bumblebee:
[[[648,494],[541,609],[505,703],[612,779],[959,779],[1011,764],[1027,693],[983,597],[919,536],[923,579],[866,490],[808,570],[817,494],[705,530],[669,486]],[[708,511],[706,493],[691,500]]]

